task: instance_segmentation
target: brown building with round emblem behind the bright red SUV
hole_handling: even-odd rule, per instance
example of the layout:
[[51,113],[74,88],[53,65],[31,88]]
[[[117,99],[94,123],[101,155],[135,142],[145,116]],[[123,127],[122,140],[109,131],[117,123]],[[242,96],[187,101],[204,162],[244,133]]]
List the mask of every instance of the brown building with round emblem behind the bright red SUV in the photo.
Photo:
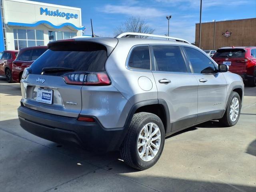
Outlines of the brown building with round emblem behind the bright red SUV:
[[[196,46],[199,46],[199,26],[197,23]],[[256,46],[256,18],[202,23],[201,49],[217,50],[226,46]]]

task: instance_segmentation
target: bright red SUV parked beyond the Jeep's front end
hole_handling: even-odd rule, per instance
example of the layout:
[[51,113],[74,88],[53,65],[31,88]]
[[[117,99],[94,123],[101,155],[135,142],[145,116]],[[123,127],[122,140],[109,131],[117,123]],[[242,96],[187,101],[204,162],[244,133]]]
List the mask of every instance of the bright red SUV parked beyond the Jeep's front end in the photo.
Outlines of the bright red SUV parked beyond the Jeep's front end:
[[224,47],[212,58],[228,65],[230,72],[240,75],[250,86],[256,86],[256,47]]

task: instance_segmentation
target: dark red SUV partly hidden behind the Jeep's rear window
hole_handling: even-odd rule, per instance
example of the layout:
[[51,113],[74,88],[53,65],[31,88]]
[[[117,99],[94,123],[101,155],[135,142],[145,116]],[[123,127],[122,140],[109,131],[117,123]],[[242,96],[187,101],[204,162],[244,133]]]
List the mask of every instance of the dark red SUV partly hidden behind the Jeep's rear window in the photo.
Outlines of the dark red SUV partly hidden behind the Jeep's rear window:
[[47,50],[47,46],[34,46],[22,48],[14,62],[12,62],[12,79],[14,82],[20,82],[22,73],[26,67],[29,67],[38,57]]

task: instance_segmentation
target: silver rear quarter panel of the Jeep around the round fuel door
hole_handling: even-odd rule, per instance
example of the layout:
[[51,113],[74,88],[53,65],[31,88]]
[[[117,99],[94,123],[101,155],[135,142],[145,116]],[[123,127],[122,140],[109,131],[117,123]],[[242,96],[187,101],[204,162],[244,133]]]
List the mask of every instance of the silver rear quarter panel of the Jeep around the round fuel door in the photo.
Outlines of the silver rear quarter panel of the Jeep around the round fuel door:
[[[126,68],[126,59],[134,43],[128,41],[120,42],[119,40],[116,48],[110,54],[106,61],[106,71],[111,79],[112,86],[114,86],[126,98],[126,104],[122,112],[116,114],[118,117],[119,126],[124,126],[126,118],[131,107],[142,101],[153,100],[158,98],[156,83],[151,70],[137,70]],[[145,44],[148,46],[148,44]],[[140,78],[142,77],[142,78]],[[146,78],[144,78],[146,77]],[[140,80],[139,80],[140,78]],[[144,82],[144,80],[146,80]],[[140,84],[140,85],[139,85]],[[145,84],[149,84],[150,88],[142,89]],[[118,104],[111,106],[113,110],[118,107]]]

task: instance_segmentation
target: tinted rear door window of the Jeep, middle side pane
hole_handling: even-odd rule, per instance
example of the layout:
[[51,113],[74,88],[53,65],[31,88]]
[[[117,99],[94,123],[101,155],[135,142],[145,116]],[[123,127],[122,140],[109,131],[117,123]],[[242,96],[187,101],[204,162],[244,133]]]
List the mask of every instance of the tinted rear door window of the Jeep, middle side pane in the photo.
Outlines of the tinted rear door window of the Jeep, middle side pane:
[[178,46],[152,46],[156,71],[188,72],[186,62]]

